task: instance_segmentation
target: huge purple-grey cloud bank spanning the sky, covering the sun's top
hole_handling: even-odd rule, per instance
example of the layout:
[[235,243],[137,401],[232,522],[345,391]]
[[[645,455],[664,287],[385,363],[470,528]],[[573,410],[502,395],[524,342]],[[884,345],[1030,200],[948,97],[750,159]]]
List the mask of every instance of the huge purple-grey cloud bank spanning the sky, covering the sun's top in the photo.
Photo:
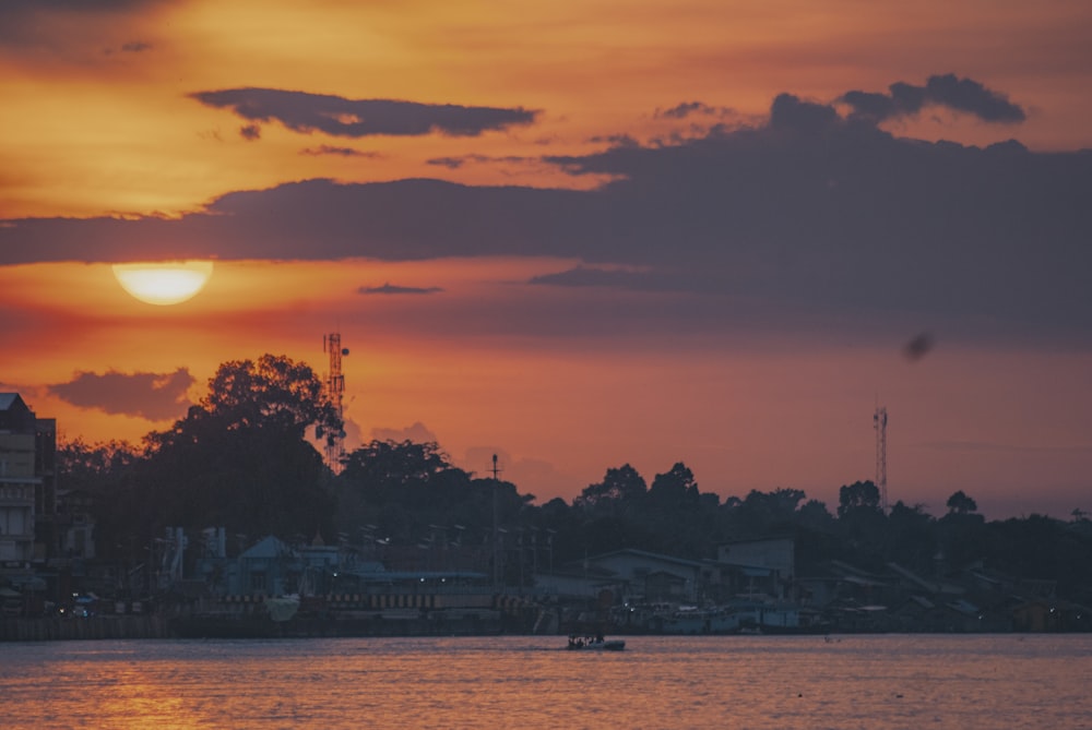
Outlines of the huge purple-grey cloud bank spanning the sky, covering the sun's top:
[[764,124],[677,144],[625,137],[541,164],[613,181],[309,180],[230,193],[178,220],[13,222],[0,227],[0,263],[554,256],[581,266],[534,284],[688,292],[704,308],[686,310],[690,321],[898,316],[900,331],[929,322],[946,339],[956,323],[1092,336],[1090,152],[899,139],[784,94]]

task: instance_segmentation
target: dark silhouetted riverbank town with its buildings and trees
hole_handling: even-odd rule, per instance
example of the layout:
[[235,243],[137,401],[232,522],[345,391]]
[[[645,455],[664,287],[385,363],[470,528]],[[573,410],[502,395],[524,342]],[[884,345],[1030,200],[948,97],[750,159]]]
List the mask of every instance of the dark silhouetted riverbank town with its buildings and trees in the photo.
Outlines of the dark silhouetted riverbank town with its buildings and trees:
[[873,481],[722,499],[681,462],[538,504],[496,457],[330,448],[335,405],[272,355],[139,445],[58,443],[0,394],[0,639],[1092,629],[1080,510],[987,522],[957,491],[937,517]]

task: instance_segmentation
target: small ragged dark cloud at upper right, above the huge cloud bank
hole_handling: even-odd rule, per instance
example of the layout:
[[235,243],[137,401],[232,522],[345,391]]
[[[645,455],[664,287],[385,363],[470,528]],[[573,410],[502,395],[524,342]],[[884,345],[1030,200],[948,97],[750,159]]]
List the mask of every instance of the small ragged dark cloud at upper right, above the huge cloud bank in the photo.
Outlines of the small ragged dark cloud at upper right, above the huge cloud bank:
[[853,118],[873,123],[912,117],[930,105],[972,115],[986,122],[1017,123],[1025,119],[1024,110],[1004,94],[973,79],[959,79],[953,73],[929,76],[924,86],[900,81],[891,84],[889,91],[889,94],[846,92],[839,101],[852,107]]

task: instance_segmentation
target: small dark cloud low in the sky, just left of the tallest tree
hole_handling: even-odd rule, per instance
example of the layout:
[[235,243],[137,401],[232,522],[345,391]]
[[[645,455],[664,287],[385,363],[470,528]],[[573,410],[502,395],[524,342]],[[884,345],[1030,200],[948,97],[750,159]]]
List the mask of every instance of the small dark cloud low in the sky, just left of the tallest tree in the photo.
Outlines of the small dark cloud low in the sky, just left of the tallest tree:
[[190,406],[194,378],[186,368],[173,373],[78,372],[68,383],[49,385],[57,397],[81,408],[134,416],[150,421],[180,418]]

